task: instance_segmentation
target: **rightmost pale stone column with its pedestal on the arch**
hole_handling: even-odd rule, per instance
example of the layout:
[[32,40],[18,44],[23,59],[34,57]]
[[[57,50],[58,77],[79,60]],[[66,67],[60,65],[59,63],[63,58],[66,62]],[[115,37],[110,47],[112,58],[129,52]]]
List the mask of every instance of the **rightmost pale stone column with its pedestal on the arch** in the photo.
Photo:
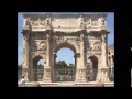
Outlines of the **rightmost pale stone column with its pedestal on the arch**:
[[107,33],[102,33],[102,67],[101,67],[101,81],[110,81],[108,77],[108,53],[107,53]]

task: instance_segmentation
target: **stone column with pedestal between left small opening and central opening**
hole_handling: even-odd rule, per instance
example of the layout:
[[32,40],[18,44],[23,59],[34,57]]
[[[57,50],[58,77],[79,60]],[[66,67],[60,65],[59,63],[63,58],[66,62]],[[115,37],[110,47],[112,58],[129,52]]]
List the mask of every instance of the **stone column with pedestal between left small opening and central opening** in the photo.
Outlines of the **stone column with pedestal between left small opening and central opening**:
[[51,82],[51,36],[47,34],[47,54],[46,54],[46,66],[44,68],[43,81]]

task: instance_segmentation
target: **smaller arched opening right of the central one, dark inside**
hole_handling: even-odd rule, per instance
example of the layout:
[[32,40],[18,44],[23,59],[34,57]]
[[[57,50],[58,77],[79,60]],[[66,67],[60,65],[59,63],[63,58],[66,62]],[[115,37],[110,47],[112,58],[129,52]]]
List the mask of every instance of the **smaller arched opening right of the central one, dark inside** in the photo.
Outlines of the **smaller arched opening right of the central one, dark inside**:
[[90,56],[89,57],[90,63],[89,63],[89,81],[95,81],[97,78],[98,74],[98,58],[96,56]]

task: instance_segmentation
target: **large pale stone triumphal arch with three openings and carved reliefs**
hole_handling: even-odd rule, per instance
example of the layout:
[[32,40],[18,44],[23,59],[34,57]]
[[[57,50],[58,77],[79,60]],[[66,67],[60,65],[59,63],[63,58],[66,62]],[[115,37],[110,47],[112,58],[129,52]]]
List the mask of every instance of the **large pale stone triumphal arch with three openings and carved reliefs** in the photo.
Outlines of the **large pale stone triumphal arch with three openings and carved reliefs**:
[[36,62],[44,59],[44,82],[55,80],[56,53],[62,47],[75,54],[75,82],[87,80],[87,59],[97,68],[96,80],[109,81],[107,14],[23,14],[23,62],[25,79],[36,80]]

